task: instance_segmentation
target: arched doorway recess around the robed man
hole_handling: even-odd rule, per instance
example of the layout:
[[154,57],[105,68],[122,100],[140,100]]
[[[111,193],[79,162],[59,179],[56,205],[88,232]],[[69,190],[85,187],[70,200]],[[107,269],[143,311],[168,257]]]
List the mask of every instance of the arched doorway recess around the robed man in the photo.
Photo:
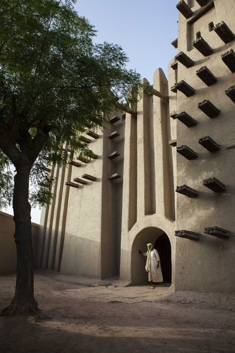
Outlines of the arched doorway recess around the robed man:
[[152,243],[159,252],[163,281],[171,283],[172,259],[171,242],[167,234],[160,228],[142,229],[135,237],[131,249],[131,284],[147,284],[148,274],[145,271],[146,257],[138,254],[138,249],[146,252],[147,243]]

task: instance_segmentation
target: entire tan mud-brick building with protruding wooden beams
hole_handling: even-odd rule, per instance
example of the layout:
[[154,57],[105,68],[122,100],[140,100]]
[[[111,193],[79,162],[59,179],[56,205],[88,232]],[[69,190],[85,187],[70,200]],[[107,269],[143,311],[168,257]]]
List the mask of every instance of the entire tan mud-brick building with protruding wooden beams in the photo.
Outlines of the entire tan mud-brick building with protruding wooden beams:
[[235,291],[235,0],[176,7],[168,79],[52,168],[36,268],[143,284],[152,242],[176,290]]

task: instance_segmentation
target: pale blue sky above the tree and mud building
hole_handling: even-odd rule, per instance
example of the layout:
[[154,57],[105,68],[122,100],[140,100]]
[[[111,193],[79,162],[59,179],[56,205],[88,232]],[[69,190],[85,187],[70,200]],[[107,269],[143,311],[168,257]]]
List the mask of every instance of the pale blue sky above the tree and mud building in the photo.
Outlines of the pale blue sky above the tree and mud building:
[[[176,55],[171,42],[177,38],[178,0],[78,0],[79,15],[85,16],[98,31],[96,43],[118,44],[135,69],[152,83],[153,73],[162,68],[167,74],[169,61]],[[13,214],[12,208],[2,210]],[[32,209],[32,221],[40,223],[41,210]]]

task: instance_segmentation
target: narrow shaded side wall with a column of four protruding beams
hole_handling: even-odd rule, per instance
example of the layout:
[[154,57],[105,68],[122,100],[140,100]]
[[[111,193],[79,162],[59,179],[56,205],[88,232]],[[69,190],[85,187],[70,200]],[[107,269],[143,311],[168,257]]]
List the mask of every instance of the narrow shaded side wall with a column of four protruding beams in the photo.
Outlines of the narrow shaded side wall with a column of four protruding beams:
[[[122,212],[122,177],[124,160],[125,115],[114,111],[112,117],[120,118],[115,123],[107,123],[104,128],[103,143],[103,180],[102,180],[102,219],[101,219],[101,278],[119,274],[121,212]],[[112,121],[112,120],[111,120]],[[110,139],[110,134],[118,132],[119,136]],[[115,158],[111,153],[118,152]],[[118,173],[120,178],[109,180]]]

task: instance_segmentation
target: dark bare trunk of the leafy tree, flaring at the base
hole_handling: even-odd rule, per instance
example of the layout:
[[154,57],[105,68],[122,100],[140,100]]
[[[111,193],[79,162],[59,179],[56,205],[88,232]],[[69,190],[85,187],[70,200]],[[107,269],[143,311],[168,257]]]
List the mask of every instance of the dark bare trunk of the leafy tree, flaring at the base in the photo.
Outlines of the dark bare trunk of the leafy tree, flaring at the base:
[[17,250],[16,286],[14,298],[2,311],[3,315],[32,315],[38,312],[38,304],[34,299],[31,206],[28,201],[29,172],[27,161],[16,167],[13,194],[14,237]]

